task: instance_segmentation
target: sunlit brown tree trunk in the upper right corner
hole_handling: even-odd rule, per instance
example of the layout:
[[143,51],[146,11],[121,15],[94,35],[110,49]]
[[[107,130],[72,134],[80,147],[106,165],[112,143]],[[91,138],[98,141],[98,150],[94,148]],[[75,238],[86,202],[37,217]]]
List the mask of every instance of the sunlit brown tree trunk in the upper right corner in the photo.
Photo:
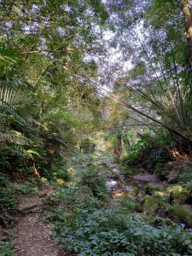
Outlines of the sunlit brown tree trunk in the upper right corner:
[[192,71],[192,17],[190,15],[189,0],[180,0],[183,10],[184,26],[189,47],[189,63]]

